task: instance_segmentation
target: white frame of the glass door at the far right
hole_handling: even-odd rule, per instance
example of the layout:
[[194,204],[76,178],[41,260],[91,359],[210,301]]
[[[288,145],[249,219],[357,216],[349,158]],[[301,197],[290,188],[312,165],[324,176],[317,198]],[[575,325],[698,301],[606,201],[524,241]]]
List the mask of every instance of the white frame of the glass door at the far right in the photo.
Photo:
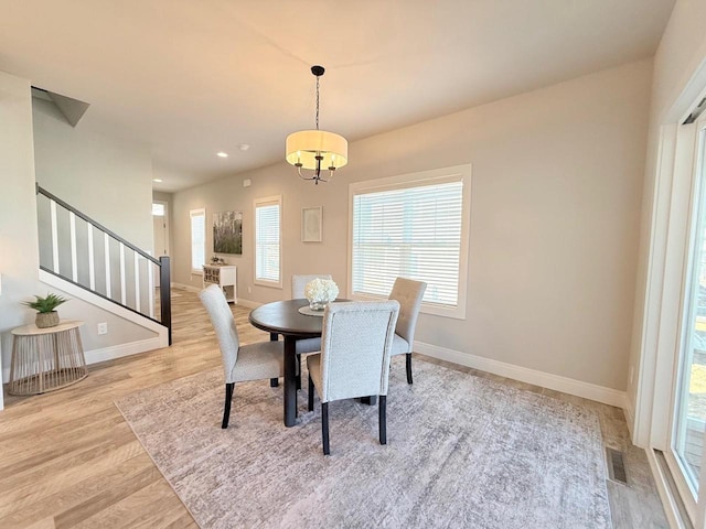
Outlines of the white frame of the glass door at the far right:
[[[706,97],[706,61],[699,65],[660,125],[657,159],[650,229],[639,378],[632,428],[633,443],[648,449],[665,505],[673,501],[660,483],[662,472],[652,449],[668,453],[672,427],[672,388],[678,360],[681,307],[685,256],[688,248],[695,126],[682,125]],[[706,468],[704,465],[703,468]],[[704,505],[706,482],[697,505],[687,505],[694,526],[706,529]],[[673,525],[677,518],[666,512]]]

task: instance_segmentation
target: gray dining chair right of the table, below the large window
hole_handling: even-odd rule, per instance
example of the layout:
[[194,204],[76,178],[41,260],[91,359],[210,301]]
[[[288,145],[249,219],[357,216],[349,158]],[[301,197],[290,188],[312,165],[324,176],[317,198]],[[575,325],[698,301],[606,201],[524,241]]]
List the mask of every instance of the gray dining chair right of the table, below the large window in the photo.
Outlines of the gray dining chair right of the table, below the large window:
[[393,355],[407,355],[407,384],[411,384],[411,347],[415,341],[417,316],[427,283],[406,278],[397,278],[389,293],[391,300],[399,302],[399,317],[393,339]]

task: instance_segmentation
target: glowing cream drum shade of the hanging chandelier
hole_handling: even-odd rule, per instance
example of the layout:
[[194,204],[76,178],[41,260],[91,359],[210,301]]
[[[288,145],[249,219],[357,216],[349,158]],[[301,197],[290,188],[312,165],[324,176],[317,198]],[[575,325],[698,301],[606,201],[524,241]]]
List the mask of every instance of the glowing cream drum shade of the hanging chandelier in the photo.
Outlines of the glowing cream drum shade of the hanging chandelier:
[[[322,156],[317,160],[317,156]],[[349,163],[349,142],[325,130],[300,130],[287,137],[287,162],[302,169],[340,169]]]

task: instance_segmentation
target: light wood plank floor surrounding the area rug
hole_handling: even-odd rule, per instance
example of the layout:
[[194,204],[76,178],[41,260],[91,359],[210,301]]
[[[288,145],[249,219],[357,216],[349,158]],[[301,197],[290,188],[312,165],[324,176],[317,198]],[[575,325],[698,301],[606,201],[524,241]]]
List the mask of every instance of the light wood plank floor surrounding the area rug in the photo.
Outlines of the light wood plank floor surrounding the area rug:
[[[113,403],[139,389],[221,366],[196,295],[175,291],[172,307],[171,347],[89,366],[86,379],[63,390],[6,395],[0,412],[0,528],[196,527]],[[269,338],[249,325],[249,310],[233,306],[233,312],[244,344]],[[644,452],[630,443],[622,410],[424,359],[595,408],[605,443],[627,456],[629,484],[608,484],[613,525],[667,527]]]

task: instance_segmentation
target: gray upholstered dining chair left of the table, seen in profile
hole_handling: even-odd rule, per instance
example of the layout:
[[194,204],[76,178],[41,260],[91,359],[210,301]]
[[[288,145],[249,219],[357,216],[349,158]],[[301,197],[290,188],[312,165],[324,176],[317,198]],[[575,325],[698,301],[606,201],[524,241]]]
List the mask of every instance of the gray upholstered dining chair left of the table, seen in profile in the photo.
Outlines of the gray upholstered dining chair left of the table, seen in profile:
[[235,382],[248,380],[270,380],[282,376],[284,373],[284,343],[258,342],[256,344],[240,345],[238,331],[228,302],[223,295],[221,287],[212,284],[199,294],[201,302],[206,307],[213,328],[218,338],[221,355],[223,356],[223,369],[225,371],[225,404],[223,408],[223,423],[221,428],[228,428],[231,418],[231,401]]

